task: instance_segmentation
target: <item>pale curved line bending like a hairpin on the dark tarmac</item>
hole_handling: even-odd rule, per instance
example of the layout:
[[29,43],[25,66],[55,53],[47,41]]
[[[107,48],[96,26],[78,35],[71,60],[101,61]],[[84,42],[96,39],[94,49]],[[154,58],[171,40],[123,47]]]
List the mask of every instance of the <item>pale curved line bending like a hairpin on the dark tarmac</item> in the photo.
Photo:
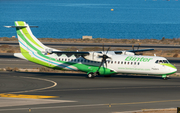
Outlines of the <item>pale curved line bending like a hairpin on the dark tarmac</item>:
[[45,87],[45,88],[39,88],[39,89],[33,89],[33,90],[26,90],[26,91],[17,91],[17,92],[8,92],[8,93],[27,93],[27,92],[34,92],[34,91],[40,91],[40,90],[50,89],[50,88],[53,88],[53,87],[57,86],[57,83],[56,83],[56,82],[54,82],[54,81],[52,81],[52,80],[48,80],[48,79],[33,78],[33,77],[22,77],[22,78],[29,78],[29,79],[37,79],[37,80],[48,81],[48,82],[52,82],[54,85],[49,86],[49,87]]

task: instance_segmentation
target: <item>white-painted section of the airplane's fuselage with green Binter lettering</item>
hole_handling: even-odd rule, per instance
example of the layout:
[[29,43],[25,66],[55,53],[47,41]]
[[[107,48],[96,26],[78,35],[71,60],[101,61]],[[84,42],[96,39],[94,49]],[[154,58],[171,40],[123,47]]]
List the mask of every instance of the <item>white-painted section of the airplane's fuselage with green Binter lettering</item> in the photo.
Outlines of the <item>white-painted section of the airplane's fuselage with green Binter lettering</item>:
[[[78,64],[99,66],[101,62],[89,61],[83,57],[76,58],[75,56],[67,57],[61,55],[54,57],[60,61],[73,62]],[[117,73],[132,73],[132,74],[167,74],[177,71],[177,69],[156,63],[157,60],[167,61],[164,57],[156,56],[140,56],[140,55],[112,55],[111,59],[107,59],[107,68]],[[168,62],[168,61],[167,61]],[[167,63],[166,62],[166,63]],[[168,62],[168,64],[170,64]],[[171,65],[171,64],[170,64]],[[106,67],[105,63],[103,67]]]

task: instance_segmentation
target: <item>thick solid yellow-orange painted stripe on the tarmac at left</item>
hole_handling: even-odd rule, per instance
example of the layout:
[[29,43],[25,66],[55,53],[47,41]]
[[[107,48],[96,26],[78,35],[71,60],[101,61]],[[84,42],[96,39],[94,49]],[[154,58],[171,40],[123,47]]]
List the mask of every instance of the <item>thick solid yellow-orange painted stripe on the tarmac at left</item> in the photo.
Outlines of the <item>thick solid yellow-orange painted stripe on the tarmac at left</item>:
[[30,99],[58,98],[58,96],[22,95],[22,94],[0,94],[0,97],[8,97],[8,98],[30,98]]

